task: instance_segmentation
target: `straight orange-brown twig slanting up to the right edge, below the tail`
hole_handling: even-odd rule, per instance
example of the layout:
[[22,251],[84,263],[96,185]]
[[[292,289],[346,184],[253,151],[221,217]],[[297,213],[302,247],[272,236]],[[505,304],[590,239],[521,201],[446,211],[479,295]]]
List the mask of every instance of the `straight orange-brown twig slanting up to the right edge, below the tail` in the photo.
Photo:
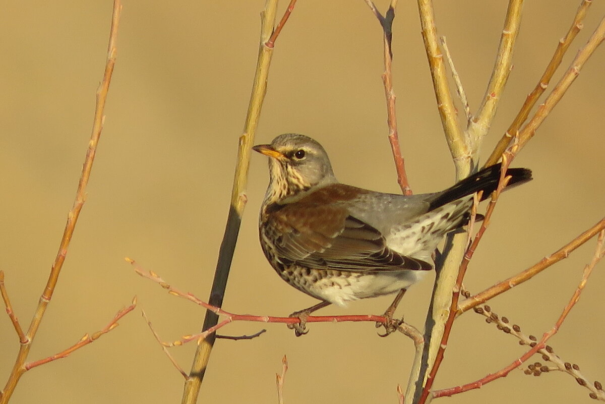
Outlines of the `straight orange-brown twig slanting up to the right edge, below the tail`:
[[603,229],[605,229],[605,218],[601,219],[594,226],[590,227],[590,229],[581,233],[565,246],[561,247],[559,250],[557,250],[557,252],[554,252],[550,256],[541,259],[539,262],[535,263],[533,266],[529,267],[523,272],[518,273],[515,276],[511,276],[511,278],[505,279],[502,282],[498,282],[486,290],[483,290],[483,292],[479,292],[476,295],[460,302],[456,315],[459,316],[465,311],[476,307],[477,305],[482,304],[491,298],[494,298],[494,296],[498,296],[500,293],[506,292],[507,290],[522,284],[525,281],[528,281],[538,273],[552,266],[552,264],[561,261],[561,259],[567,258],[567,256],[569,256],[569,254],[571,254],[575,249],[586,243],[586,241],[593,238]]

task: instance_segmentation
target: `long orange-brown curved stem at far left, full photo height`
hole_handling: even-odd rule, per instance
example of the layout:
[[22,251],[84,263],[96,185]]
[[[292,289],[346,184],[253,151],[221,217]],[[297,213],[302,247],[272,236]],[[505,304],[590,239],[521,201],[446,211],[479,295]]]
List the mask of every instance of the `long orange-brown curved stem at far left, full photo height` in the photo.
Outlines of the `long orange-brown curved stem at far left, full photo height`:
[[70,246],[71,236],[73,236],[74,229],[76,228],[77,219],[80,215],[80,210],[82,210],[82,206],[86,198],[86,186],[88,184],[88,178],[90,178],[91,169],[93,168],[93,161],[97,151],[97,144],[99,143],[101,131],[103,130],[103,120],[105,119],[105,116],[103,116],[103,114],[105,109],[105,101],[107,99],[107,93],[110,87],[111,74],[113,73],[114,65],[116,64],[117,30],[120,21],[121,11],[122,4],[120,0],[114,0],[113,15],[111,18],[110,40],[107,51],[107,60],[105,63],[105,73],[103,74],[103,80],[100,83],[99,88],[97,89],[96,108],[94,110],[93,132],[90,137],[90,142],[88,142],[88,151],[86,153],[84,165],[82,166],[82,175],[80,176],[80,181],[77,186],[76,199],[74,201],[73,207],[67,215],[67,223],[65,224],[65,230],[63,232],[63,236],[59,244],[59,252],[57,252],[57,256],[54,259],[53,266],[50,270],[50,275],[48,276],[46,287],[44,288],[44,292],[40,296],[38,307],[36,307],[34,316],[31,319],[30,327],[27,330],[27,333],[25,334],[25,342],[21,344],[21,347],[19,347],[19,353],[17,355],[17,359],[15,360],[15,365],[13,365],[13,370],[11,371],[11,374],[8,377],[7,384],[4,388],[4,393],[2,394],[2,396],[0,396],[0,403],[2,404],[8,402],[11,394],[13,394],[13,391],[15,390],[17,383],[19,382],[19,379],[21,378],[22,374],[26,371],[24,364],[30,352],[31,342],[36,336],[36,332],[40,327],[42,318],[44,317],[44,313],[48,307],[48,304],[50,303],[51,298],[53,297],[54,288],[56,287],[57,281],[59,280],[59,274],[63,267],[63,263],[65,262],[65,256],[67,256],[67,249]]

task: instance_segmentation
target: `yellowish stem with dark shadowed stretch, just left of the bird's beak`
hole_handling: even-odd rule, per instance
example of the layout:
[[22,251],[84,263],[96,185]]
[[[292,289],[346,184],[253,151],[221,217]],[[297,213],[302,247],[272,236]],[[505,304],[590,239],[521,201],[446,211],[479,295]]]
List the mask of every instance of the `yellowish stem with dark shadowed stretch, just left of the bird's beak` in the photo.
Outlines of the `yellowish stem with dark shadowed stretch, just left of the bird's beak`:
[[[244,123],[244,132],[240,137],[238,145],[237,165],[235,166],[235,177],[231,193],[231,206],[229,206],[229,217],[225,226],[223,242],[218,252],[217,268],[214,273],[214,281],[208,299],[209,304],[215,307],[221,307],[225,288],[227,287],[227,278],[233,259],[237,236],[240,231],[241,217],[246,206],[246,184],[248,177],[248,168],[250,161],[250,149],[254,142],[254,134],[260,119],[261,106],[267,90],[267,76],[269,75],[269,65],[273,55],[273,44],[275,42],[278,30],[273,30],[275,26],[275,15],[278,0],[267,0],[265,8],[261,13],[261,37],[260,47],[258,49],[257,68],[252,86],[252,94]],[[285,24],[287,17],[292,12],[294,1],[290,2],[290,7],[286,10],[284,18],[280,22],[281,27]],[[277,33],[277,34],[275,34]],[[202,330],[209,330],[218,324],[218,314],[207,310],[204,318]],[[210,334],[200,342],[195,351],[193,363],[189,376],[185,380],[183,388],[183,397],[181,403],[195,403],[200,392],[201,381],[206,372],[206,366],[214,345],[216,336]]]

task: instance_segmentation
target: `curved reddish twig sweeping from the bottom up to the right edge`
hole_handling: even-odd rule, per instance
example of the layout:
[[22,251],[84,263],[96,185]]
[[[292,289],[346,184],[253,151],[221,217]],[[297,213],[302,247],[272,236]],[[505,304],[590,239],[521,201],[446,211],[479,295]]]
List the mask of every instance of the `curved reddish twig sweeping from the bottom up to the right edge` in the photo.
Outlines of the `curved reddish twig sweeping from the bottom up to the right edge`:
[[463,391],[480,388],[481,386],[485,385],[486,383],[492,382],[496,379],[499,379],[500,377],[505,377],[512,370],[514,370],[515,368],[518,368],[520,365],[522,365],[522,363],[525,362],[526,360],[528,360],[533,354],[537,353],[538,351],[540,351],[542,349],[545,349],[546,341],[549,338],[551,338],[554,334],[556,334],[558,332],[559,328],[561,328],[561,325],[567,318],[567,315],[572,310],[572,308],[574,308],[574,305],[580,299],[580,295],[581,295],[582,291],[584,290],[584,287],[586,286],[588,277],[590,276],[592,269],[594,269],[597,262],[600,261],[601,258],[603,258],[604,241],[605,241],[605,230],[601,230],[601,232],[599,234],[597,248],[595,249],[594,256],[592,257],[592,260],[590,261],[590,263],[587,264],[586,267],[584,267],[584,272],[582,273],[582,278],[580,280],[580,284],[578,284],[578,287],[576,288],[574,295],[572,295],[571,299],[569,299],[569,302],[563,308],[563,311],[562,311],[561,315],[559,316],[559,318],[557,319],[557,322],[555,322],[555,325],[551,328],[551,330],[544,333],[540,342],[537,342],[537,344],[535,344],[531,348],[531,350],[529,350],[528,352],[523,354],[523,356],[521,356],[519,359],[515,360],[510,365],[501,369],[500,371],[497,371],[496,373],[488,374],[487,376],[483,377],[482,379],[476,380],[473,383],[468,383],[463,386],[456,386],[456,387],[453,387],[450,389],[443,389],[443,390],[435,391],[435,392],[433,392],[433,397],[436,398],[436,397],[443,397],[443,396],[452,396],[453,394],[462,393]]

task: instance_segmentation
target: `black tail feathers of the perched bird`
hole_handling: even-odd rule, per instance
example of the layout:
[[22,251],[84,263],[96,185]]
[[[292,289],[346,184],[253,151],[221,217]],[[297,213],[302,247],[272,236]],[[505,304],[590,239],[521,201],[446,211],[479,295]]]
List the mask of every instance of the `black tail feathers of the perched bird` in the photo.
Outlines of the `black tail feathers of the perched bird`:
[[[455,201],[479,191],[483,191],[481,200],[489,198],[489,195],[498,187],[501,166],[502,163],[498,163],[486,167],[477,172],[477,174],[473,174],[445,191],[439,192],[439,194],[436,194],[433,197],[433,200],[430,201],[431,204],[428,210],[436,209],[446,203],[450,203],[451,201]],[[515,185],[526,183],[532,179],[531,170],[526,168],[509,168],[506,170],[506,175],[511,176],[511,180],[508,181],[508,185],[506,186],[507,189]]]

